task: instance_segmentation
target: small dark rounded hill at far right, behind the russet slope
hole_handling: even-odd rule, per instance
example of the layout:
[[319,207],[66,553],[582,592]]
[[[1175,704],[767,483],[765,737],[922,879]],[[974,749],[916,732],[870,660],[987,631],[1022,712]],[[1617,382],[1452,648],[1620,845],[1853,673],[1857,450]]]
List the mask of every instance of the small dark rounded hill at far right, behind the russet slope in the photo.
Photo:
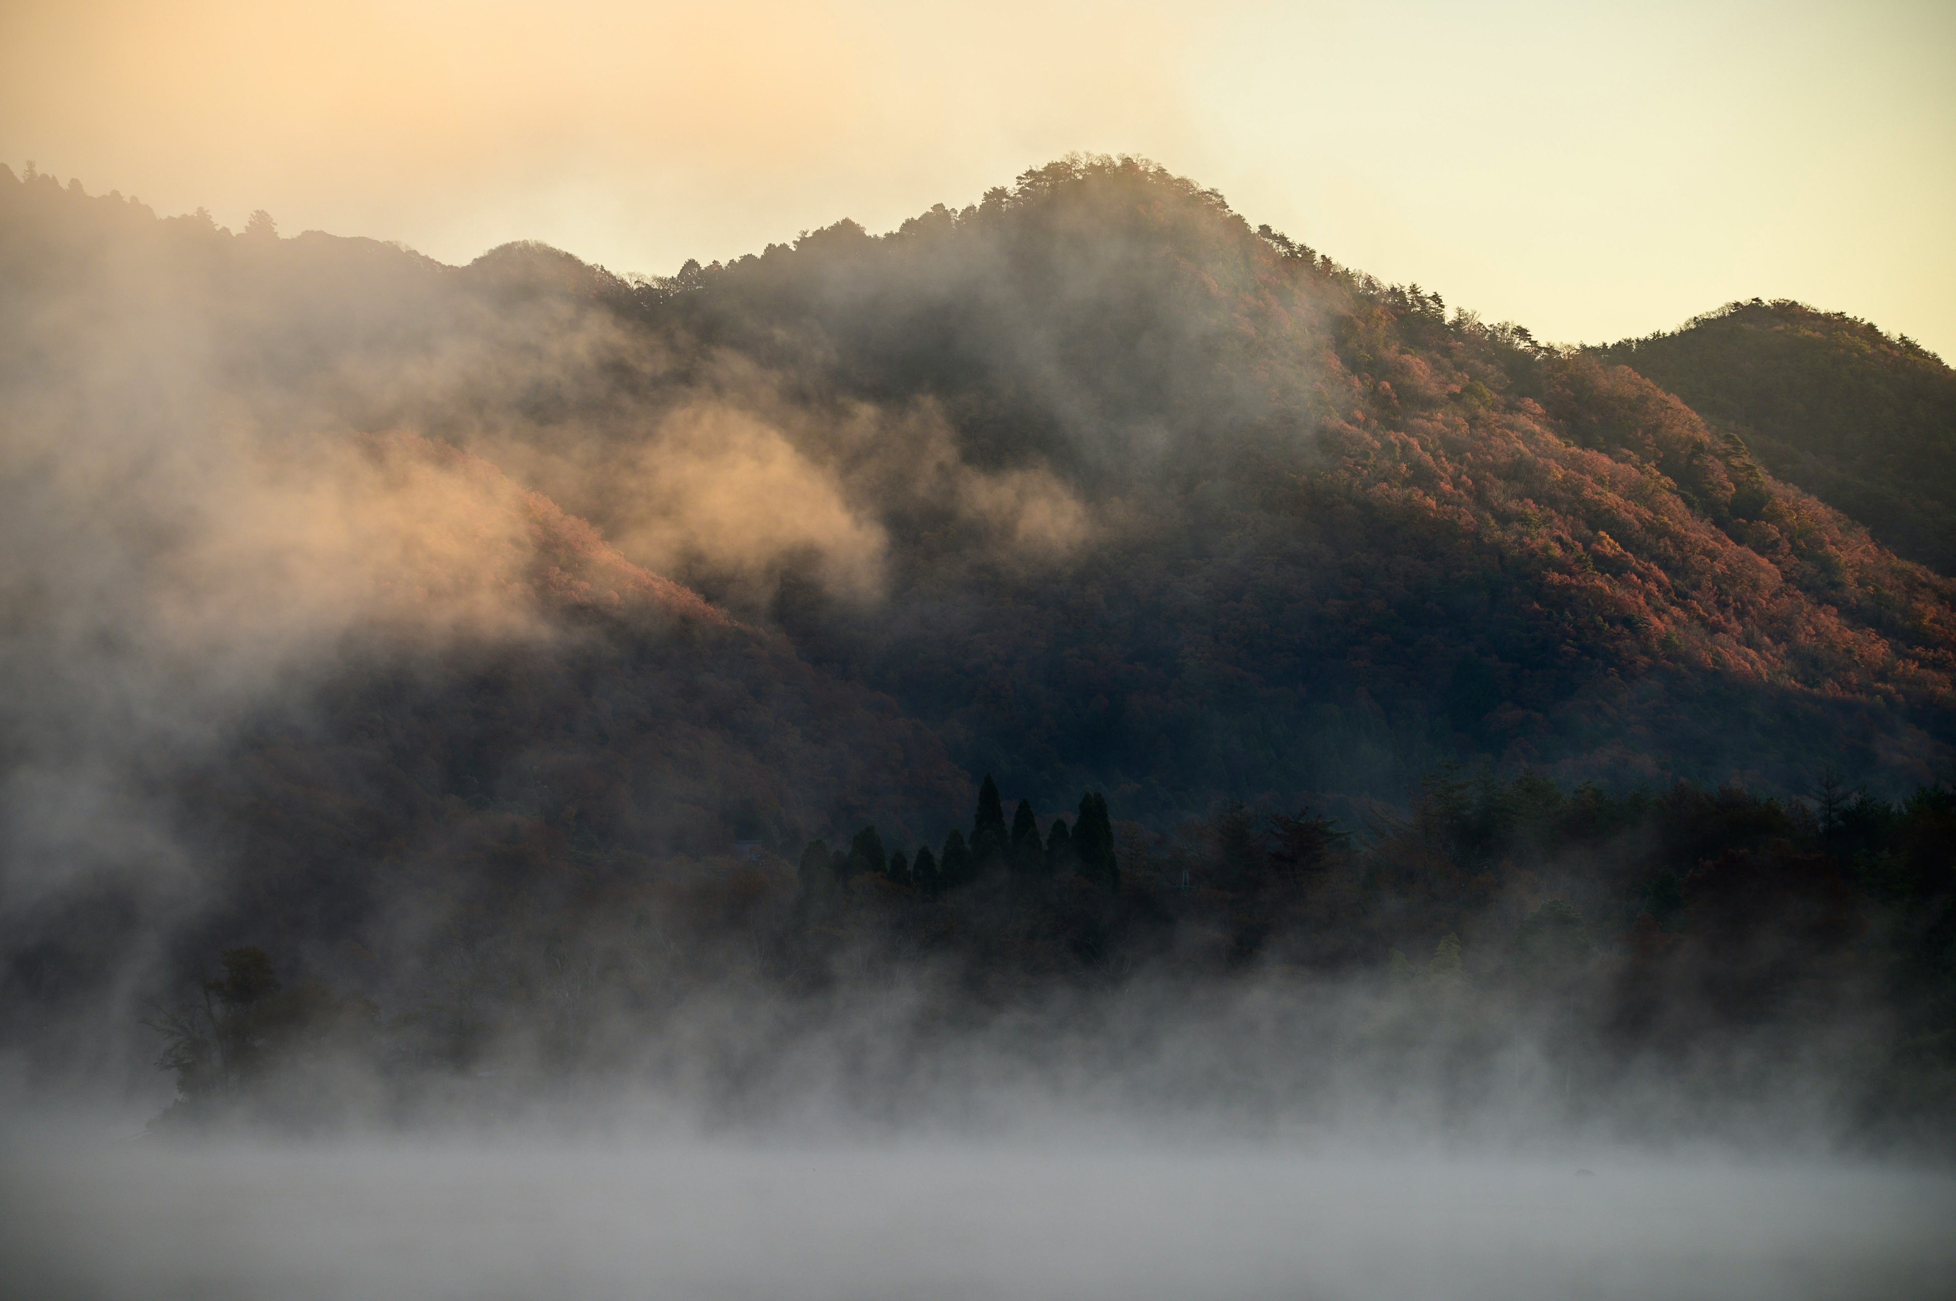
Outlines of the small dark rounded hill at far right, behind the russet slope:
[[1753,299],[1594,354],[1670,389],[1882,546],[1956,573],[1956,372],[1915,340]]

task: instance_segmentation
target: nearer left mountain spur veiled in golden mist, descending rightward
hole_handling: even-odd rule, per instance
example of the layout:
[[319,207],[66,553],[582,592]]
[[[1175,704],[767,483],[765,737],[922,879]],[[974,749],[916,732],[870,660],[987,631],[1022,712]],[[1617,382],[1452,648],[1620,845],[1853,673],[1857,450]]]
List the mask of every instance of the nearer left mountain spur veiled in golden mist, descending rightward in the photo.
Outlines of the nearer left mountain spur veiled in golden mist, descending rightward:
[[0,203],[8,1015],[233,931],[385,990],[458,910],[962,806],[890,700],[479,456],[356,419],[440,383],[417,348],[528,344],[557,297],[528,319],[495,262],[454,286],[45,180]]

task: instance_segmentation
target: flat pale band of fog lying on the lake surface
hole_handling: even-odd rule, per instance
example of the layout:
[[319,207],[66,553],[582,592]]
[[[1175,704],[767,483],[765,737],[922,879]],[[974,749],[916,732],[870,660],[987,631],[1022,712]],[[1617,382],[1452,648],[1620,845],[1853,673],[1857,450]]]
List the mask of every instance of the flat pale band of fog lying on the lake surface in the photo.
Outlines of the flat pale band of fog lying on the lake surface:
[[1610,1146],[6,1141],[16,1295],[1938,1297],[1946,1172]]

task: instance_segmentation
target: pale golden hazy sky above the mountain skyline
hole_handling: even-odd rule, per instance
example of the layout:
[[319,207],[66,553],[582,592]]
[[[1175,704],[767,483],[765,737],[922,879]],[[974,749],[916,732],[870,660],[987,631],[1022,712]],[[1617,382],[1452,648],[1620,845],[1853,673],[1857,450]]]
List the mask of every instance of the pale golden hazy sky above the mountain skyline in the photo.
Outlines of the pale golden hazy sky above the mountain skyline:
[[1956,360],[1952,68],[1952,0],[4,0],[0,160],[671,272],[1140,153],[1547,338],[1788,295]]

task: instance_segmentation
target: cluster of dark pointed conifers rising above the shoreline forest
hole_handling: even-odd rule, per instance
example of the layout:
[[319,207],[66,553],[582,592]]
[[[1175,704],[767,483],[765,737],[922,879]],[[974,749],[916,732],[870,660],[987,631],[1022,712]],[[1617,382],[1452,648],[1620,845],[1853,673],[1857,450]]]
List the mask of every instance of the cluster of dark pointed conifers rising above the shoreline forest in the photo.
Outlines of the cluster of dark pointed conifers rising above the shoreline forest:
[[915,857],[908,857],[902,847],[886,853],[874,824],[857,831],[847,849],[829,849],[827,841],[814,839],[802,851],[800,882],[804,892],[820,890],[829,882],[847,884],[865,873],[910,886],[925,898],[939,898],[992,875],[1007,875],[1015,880],[1050,880],[1074,873],[1109,892],[1121,888],[1107,796],[1095,790],[1084,792],[1072,826],[1064,818],[1054,818],[1052,830],[1041,839],[1039,816],[1033,812],[1031,800],[1019,800],[1011,826],[1005,826],[1005,804],[1000,800],[998,783],[992,781],[990,773],[978,788],[970,839],[951,828],[941,853],[931,853],[929,845],[919,845]]

